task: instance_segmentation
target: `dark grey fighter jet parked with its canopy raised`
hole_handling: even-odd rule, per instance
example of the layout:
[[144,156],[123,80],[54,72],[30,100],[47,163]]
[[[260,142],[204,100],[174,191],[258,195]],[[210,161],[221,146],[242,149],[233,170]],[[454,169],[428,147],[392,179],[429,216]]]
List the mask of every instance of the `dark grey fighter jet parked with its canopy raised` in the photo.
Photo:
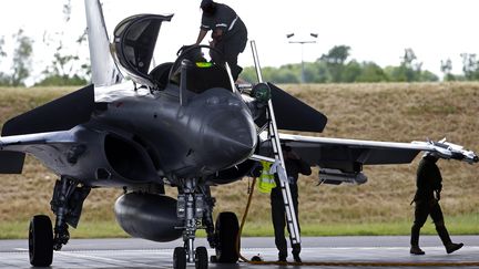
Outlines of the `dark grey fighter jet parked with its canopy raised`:
[[[287,200],[284,145],[320,167],[324,184],[363,184],[364,165],[407,164],[420,152],[478,162],[473,152],[446,141],[391,143],[279,133],[320,133],[327,117],[262,81],[254,43],[258,83],[241,86],[221,58],[206,59],[208,53],[221,55],[206,45],[183,46],[174,62],[151,66],[160,28],[173,15],[126,18],[110,42],[100,2],[85,0],[85,8],[93,84],[11,118],[1,132],[0,174],[21,174],[28,153],[59,176],[51,200],[53,225],[44,215],[30,221],[32,266],[52,263],[53,250],[69,241],[69,227],[77,228],[93,188],[124,189],[114,207],[120,226],[133,237],[159,242],[182,237],[173,268],[195,263],[203,269],[208,255],[205,247],[194,246],[197,229],[206,230],[217,262],[238,259],[237,217],[226,211],[214,221],[211,188],[241,180],[258,159],[269,161],[278,164]],[[176,188],[177,196],[166,196],[165,186]],[[295,221],[288,221],[293,228]],[[293,234],[299,241],[298,232]]]

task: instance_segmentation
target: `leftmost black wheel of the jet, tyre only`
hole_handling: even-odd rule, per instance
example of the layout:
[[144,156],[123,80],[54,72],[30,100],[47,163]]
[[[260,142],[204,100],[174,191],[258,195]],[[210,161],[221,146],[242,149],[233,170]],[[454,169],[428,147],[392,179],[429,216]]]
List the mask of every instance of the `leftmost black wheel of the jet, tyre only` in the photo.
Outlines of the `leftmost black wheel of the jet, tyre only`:
[[53,228],[49,216],[37,215],[29,228],[30,263],[49,267],[53,261]]

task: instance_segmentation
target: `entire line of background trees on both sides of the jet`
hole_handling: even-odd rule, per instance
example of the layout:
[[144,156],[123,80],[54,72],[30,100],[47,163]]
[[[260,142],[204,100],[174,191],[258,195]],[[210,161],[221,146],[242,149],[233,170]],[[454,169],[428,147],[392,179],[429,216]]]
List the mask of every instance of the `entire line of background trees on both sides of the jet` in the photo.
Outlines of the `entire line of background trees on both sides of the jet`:
[[[80,59],[79,53],[63,44],[64,32],[71,15],[71,0],[63,4],[63,30],[43,34],[42,42],[54,48],[51,62],[44,68],[39,77],[32,77],[33,43],[20,29],[12,37],[13,51],[4,50],[6,39],[0,37],[0,64],[11,59],[10,69],[0,71],[0,86],[24,86],[28,79],[34,80],[34,85],[84,85],[90,81],[91,68],[88,58]],[[81,33],[74,44],[79,50],[86,41],[86,31]],[[439,81],[438,75],[422,69],[412,49],[405,49],[399,65],[381,68],[373,61],[358,62],[350,59],[351,48],[335,45],[328,53],[323,54],[315,62],[302,64],[285,64],[279,68],[264,68],[265,81],[275,83],[354,83],[354,82],[427,82]],[[477,81],[479,80],[479,60],[476,54],[462,53],[462,74],[452,74],[452,61],[441,61],[440,70],[445,81]],[[7,63],[8,64],[8,63]],[[6,65],[6,64],[3,64]],[[304,71],[303,71],[304,68]],[[253,66],[245,68],[241,77],[256,82]]]

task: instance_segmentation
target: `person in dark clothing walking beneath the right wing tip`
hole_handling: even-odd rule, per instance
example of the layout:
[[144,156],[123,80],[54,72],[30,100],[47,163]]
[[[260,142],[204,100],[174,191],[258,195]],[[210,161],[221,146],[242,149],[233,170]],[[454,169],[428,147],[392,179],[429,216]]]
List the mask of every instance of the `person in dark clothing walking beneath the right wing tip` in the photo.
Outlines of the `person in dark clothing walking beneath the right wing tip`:
[[436,165],[438,157],[427,153],[420,161],[417,170],[417,192],[414,198],[416,210],[410,240],[410,254],[412,255],[425,255],[425,251],[419,248],[419,231],[426,223],[428,215],[431,216],[436,230],[448,254],[451,254],[463,246],[463,244],[455,244],[451,241],[444,223],[442,211],[439,206],[440,192],[442,189],[442,176]]

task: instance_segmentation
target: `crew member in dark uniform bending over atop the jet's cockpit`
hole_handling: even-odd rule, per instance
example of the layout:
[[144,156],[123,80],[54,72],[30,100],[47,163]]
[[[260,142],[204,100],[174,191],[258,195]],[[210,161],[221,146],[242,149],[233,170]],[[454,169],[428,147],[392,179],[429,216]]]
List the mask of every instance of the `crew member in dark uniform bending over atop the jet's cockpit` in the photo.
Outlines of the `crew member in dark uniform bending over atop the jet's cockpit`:
[[[236,12],[226,4],[216,3],[213,0],[202,0],[203,10],[200,33],[196,40],[198,45],[208,31],[212,31],[213,41],[210,45],[221,51],[228,63],[233,79],[236,81],[243,71],[237,65],[237,56],[246,48],[247,30]],[[217,53],[211,52],[212,60],[221,62]]]

